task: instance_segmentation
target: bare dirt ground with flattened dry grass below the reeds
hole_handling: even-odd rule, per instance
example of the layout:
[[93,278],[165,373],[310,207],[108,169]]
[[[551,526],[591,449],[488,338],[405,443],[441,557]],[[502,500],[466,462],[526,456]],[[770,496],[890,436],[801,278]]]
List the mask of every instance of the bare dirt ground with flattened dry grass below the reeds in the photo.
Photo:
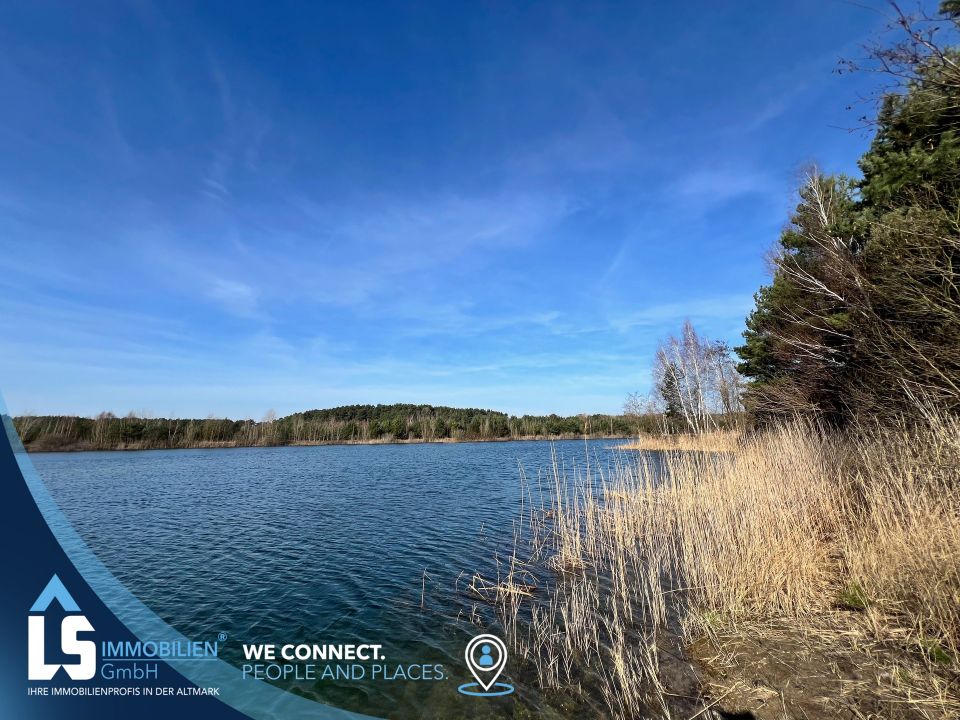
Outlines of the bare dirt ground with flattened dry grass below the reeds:
[[879,634],[876,622],[836,612],[804,619],[802,626],[744,623],[712,631],[687,652],[704,704],[717,717],[960,718],[956,662],[932,659],[919,646],[905,651],[891,642],[889,625]]

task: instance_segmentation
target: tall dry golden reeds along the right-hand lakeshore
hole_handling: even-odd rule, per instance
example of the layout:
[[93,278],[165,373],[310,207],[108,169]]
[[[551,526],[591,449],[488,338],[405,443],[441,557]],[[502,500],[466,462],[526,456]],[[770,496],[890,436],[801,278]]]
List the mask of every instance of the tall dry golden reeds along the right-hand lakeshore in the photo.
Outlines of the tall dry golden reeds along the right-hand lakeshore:
[[869,689],[891,695],[877,707],[960,713],[956,418],[844,437],[797,423],[733,452],[612,468],[554,457],[527,494],[524,534],[489,587],[544,687],[599,695],[613,717],[688,717],[709,703],[678,704],[671,683],[696,641],[788,620],[833,652],[857,623],[872,634],[861,664],[871,648],[912,659],[909,683]]

